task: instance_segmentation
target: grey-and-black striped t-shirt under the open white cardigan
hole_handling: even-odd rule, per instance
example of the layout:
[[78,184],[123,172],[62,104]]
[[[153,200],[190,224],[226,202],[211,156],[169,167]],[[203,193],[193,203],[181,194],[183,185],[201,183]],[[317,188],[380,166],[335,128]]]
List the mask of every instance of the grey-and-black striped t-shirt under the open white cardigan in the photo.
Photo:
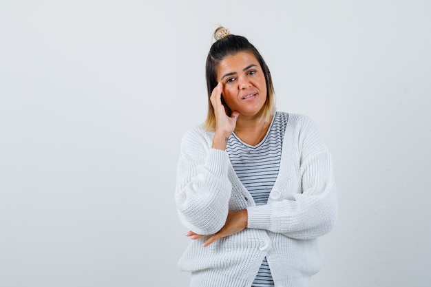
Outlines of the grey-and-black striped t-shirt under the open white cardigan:
[[[233,169],[256,205],[268,202],[269,193],[277,179],[287,120],[287,113],[277,112],[264,139],[254,146],[242,142],[235,134],[229,138],[226,151]],[[274,286],[266,257],[251,286]]]

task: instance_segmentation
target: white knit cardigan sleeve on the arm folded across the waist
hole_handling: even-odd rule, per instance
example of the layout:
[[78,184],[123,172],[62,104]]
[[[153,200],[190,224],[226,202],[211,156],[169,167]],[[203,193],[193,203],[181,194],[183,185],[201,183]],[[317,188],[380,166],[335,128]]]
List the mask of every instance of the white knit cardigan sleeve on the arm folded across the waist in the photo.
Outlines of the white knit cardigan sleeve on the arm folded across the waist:
[[[305,240],[328,233],[335,226],[338,209],[330,153],[311,120],[305,116],[296,120],[292,133],[294,156],[288,159],[296,160],[296,171],[291,170],[295,176],[285,180],[298,178],[302,191],[276,191],[268,204],[249,206],[248,227]],[[280,194],[286,196],[280,200]]]

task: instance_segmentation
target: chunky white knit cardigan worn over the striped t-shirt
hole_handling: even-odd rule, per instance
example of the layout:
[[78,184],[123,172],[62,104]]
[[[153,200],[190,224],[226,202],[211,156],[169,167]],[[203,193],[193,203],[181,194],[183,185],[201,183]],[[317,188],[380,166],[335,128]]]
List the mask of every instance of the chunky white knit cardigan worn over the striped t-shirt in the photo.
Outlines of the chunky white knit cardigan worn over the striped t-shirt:
[[182,138],[176,205],[189,230],[211,235],[229,210],[247,209],[248,228],[207,247],[192,240],[178,262],[193,287],[248,287],[266,256],[276,287],[309,286],[322,264],[317,237],[337,220],[333,164],[317,128],[289,114],[277,180],[268,203],[256,206],[226,151],[212,149],[213,132],[195,127]]

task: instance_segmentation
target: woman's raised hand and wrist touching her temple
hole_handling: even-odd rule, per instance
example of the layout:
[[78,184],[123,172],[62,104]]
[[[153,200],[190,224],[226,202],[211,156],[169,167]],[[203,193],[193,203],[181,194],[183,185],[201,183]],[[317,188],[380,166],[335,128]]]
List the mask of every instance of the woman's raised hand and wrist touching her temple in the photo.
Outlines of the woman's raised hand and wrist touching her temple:
[[211,93],[211,104],[214,108],[215,116],[215,134],[213,138],[213,149],[226,149],[229,136],[233,133],[236,127],[236,120],[240,113],[232,111],[231,116],[227,116],[224,105],[222,104],[222,83],[218,83]]

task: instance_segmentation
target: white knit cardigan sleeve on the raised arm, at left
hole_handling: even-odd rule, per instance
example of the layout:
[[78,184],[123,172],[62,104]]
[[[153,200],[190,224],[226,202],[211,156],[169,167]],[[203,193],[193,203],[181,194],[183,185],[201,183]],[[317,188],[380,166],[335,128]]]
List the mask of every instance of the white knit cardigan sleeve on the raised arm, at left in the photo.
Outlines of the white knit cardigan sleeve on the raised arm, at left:
[[205,136],[197,127],[183,136],[175,193],[182,224],[200,235],[216,233],[224,226],[231,196],[229,156],[212,149]]

